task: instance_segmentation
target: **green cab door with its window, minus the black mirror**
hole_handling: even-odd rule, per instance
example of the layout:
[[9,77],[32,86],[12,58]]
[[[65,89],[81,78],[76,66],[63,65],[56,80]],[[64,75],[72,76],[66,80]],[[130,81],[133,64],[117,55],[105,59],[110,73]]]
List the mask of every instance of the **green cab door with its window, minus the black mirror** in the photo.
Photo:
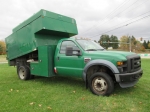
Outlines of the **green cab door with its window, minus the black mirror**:
[[66,40],[62,42],[60,51],[55,57],[57,73],[62,76],[82,77],[83,56],[66,56],[66,47],[73,47],[73,50],[79,50],[79,47],[73,41]]

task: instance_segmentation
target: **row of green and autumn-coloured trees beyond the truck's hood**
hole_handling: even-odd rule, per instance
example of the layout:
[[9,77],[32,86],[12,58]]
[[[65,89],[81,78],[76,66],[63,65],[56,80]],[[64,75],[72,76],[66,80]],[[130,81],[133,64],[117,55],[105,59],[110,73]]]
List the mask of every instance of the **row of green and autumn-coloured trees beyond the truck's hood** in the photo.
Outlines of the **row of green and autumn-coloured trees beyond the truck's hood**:
[[[130,42],[131,41],[131,42]],[[131,51],[144,51],[145,49],[150,49],[150,42],[144,41],[142,44],[139,40],[137,40],[134,36],[122,36],[120,40],[118,40],[117,36],[114,35],[101,35],[98,43],[108,49],[112,47],[112,49],[121,49],[125,51],[130,50],[131,44]]]

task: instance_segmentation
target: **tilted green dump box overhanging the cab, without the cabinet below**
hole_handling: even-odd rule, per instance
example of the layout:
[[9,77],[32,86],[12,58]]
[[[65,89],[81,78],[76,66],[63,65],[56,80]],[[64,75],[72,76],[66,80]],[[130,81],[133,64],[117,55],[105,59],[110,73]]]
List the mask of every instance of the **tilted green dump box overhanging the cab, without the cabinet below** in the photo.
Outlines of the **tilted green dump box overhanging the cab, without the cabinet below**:
[[7,59],[30,53],[43,45],[57,45],[61,38],[76,35],[76,21],[60,14],[40,10],[13,29],[6,41]]

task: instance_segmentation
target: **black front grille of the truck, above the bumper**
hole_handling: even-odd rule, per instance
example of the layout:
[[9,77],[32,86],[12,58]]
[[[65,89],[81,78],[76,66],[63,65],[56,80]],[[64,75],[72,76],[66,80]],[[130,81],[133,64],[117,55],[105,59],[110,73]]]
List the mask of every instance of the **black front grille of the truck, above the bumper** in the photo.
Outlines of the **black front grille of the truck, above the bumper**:
[[140,70],[141,68],[141,58],[137,54],[127,56],[127,63],[128,63],[127,67],[128,73],[135,72],[137,70]]

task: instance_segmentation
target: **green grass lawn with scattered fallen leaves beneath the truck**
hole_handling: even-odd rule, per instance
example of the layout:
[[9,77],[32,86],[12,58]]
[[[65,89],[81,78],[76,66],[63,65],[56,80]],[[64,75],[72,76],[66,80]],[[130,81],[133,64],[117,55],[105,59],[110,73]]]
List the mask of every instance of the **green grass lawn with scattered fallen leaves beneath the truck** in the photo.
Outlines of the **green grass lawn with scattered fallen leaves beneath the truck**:
[[109,97],[93,95],[82,80],[63,77],[18,79],[16,68],[0,64],[0,112],[148,112],[150,59],[142,59],[143,77],[132,88],[115,85]]

